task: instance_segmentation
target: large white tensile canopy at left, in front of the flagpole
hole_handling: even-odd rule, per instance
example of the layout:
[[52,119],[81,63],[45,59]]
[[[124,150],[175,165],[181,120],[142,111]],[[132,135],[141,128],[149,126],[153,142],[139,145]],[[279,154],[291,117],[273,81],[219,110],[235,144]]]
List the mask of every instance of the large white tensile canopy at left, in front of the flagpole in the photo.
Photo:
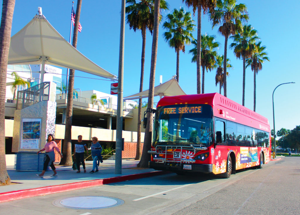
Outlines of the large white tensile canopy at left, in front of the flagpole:
[[[69,44],[46,20],[37,14],[11,37],[8,64],[44,64],[75,69],[116,80],[117,76],[104,70]],[[44,76],[44,69],[41,74]],[[43,78],[41,77],[41,81]]]

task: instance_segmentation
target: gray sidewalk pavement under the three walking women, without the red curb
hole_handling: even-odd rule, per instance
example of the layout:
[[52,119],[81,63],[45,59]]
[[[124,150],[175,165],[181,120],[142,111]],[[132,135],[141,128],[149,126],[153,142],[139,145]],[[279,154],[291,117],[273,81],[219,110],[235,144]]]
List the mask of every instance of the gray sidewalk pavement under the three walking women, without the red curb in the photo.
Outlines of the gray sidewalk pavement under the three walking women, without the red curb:
[[[139,160],[122,160],[122,174],[115,174],[115,160],[104,160],[99,165],[99,172],[95,174],[89,173],[92,170],[92,161],[85,162],[86,173],[83,172],[82,166],[80,166],[80,173],[73,171],[71,166],[59,166],[55,165],[58,176],[50,177],[53,171],[46,171],[43,178],[37,177],[35,174],[41,172],[29,172],[29,171],[16,171],[13,166],[7,166],[7,172],[10,176],[11,184],[8,186],[0,186],[0,195],[3,192],[11,192],[23,189],[35,189],[45,186],[61,185],[67,183],[95,180],[95,179],[107,179],[111,177],[143,174],[147,172],[155,172],[154,169],[136,169]],[[132,169],[135,168],[135,169]]]

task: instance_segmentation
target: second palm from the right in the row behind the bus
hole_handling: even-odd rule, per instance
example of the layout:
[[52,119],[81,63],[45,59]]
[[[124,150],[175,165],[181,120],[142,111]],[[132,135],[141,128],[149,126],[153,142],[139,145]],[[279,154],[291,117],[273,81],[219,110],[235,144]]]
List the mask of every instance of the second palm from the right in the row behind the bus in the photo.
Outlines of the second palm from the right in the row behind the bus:
[[256,52],[255,41],[259,39],[257,31],[251,25],[244,25],[243,29],[237,34],[231,36],[234,43],[230,44],[230,48],[234,47],[236,58],[243,59],[243,99],[242,105],[245,105],[245,77],[246,77],[246,59]]

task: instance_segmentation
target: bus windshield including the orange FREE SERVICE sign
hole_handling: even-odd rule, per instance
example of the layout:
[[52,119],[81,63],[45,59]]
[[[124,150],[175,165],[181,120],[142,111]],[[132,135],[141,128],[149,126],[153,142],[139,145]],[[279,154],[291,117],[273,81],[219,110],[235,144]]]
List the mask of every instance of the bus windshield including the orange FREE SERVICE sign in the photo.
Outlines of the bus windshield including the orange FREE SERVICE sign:
[[204,145],[213,143],[213,110],[208,104],[179,104],[158,107],[152,146]]

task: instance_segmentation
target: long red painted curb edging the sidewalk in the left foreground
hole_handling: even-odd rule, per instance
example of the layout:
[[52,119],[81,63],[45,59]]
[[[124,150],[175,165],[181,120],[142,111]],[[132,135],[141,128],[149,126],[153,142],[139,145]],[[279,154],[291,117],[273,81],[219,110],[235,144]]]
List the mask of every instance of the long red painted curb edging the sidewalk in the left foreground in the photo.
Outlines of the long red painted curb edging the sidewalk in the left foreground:
[[103,184],[116,183],[116,182],[121,182],[126,180],[152,177],[152,176],[163,175],[167,173],[169,172],[153,171],[153,172],[137,173],[132,175],[123,175],[123,176],[117,176],[111,178],[104,178],[104,179],[95,179],[89,181],[80,181],[74,183],[38,187],[33,189],[23,189],[23,190],[16,190],[10,192],[2,192],[0,193],[0,202],[12,201],[16,199],[28,198],[28,197],[38,196],[38,195],[48,195],[48,194],[53,194],[58,192],[75,190],[75,189],[88,188],[92,186],[100,186]]

